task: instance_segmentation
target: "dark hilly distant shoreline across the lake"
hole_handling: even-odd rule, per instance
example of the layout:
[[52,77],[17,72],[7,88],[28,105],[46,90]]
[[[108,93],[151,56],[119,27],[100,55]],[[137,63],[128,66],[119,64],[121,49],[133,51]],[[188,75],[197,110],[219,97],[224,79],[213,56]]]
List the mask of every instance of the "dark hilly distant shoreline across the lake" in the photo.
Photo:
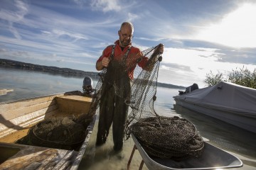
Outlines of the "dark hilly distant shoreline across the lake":
[[[60,68],[52,66],[43,66],[38,64],[31,64],[26,62],[18,62],[15,60],[0,59],[0,67],[31,70],[35,72],[47,72],[50,74],[59,74],[65,77],[92,77],[99,78],[98,72],[85,72],[78,69]],[[174,84],[164,84],[157,82],[158,86],[171,88],[171,89],[186,89],[184,86],[176,86]]]

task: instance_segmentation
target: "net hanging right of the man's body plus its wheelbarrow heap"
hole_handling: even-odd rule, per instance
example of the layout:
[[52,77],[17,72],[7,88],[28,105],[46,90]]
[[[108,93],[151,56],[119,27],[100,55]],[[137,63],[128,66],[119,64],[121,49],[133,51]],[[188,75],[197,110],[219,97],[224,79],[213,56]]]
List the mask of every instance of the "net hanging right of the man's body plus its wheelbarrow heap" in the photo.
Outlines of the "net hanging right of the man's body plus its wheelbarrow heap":
[[[145,151],[154,157],[173,159],[200,157],[204,143],[195,126],[186,119],[166,118],[154,111],[161,62],[161,55],[154,55],[156,47],[142,52],[144,56],[149,57],[150,69],[141,67],[134,69],[131,95],[124,96],[127,104],[132,108],[127,119],[126,137],[129,138],[131,133],[134,134]],[[134,65],[127,70],[132,67]],[[113,77],[116,74],[112,72]],[[122,95],[122,86],[118,90],[117,92]]]

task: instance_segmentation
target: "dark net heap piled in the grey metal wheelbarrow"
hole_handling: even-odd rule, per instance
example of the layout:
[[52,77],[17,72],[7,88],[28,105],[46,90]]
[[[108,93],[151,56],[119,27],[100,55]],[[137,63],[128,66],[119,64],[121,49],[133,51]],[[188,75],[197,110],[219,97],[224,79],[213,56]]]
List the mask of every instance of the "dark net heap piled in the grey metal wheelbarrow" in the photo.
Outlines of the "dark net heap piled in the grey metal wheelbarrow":
[[174,117],[149,117],[130,127],[147,154],[175,160],[200,157],[203,139],[188,120]]

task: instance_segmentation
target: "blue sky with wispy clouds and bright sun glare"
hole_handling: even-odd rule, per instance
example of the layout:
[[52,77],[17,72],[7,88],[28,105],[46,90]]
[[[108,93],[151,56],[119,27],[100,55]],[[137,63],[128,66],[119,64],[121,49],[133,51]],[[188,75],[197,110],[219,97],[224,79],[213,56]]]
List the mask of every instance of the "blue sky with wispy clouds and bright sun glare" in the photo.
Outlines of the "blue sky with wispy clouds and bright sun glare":
[[206,86],[206,74],[256,68],[255,0],[0,0],[0,58],[97,72],[134,25],[132,45],[164,44],[158,81]]

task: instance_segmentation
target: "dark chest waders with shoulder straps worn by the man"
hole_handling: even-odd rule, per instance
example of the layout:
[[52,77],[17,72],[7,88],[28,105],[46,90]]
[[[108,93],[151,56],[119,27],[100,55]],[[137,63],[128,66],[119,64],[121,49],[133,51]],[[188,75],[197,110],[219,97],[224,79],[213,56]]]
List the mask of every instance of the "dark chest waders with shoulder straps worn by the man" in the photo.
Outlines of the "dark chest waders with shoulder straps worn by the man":
[[[128,106],[125,103],[125,98],[130,95],[131,87],[127,84],[130,84],[127,70],[123,69],[122,79],[115,79],[113,77],[114,67],[112,64],[118,64],[114,62],[114,47],[112,47],[112,53],[110,56],[110,64],[107,67],[106,79],[102,82],[102,96],[100,98],[100,118],[97,131],[97,140],[96,145],[102,145],[106,142],[107,136],[110,132],[110,126],[112,125],[112,134],[114,142],[114,150],[120,150],[123,146],[124,139],[124,124],[127,120]],[[127,57],[131,47],[127,50],[122,62],[126,64]],[[124,66],[125,67],[125,66]],[[115,88],[118,86],[125,86],[127,88],[122,91],[123,95],[120,97],[117,95]],[[112,124],[113,123],[113,124]]]

